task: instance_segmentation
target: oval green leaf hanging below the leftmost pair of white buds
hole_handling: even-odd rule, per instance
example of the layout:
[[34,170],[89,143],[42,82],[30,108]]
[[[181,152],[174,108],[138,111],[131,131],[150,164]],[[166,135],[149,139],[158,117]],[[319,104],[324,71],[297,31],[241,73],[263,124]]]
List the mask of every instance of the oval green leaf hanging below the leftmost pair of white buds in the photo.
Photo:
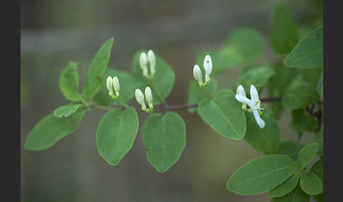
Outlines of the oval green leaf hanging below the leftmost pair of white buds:
[[109,165],[118,165],[131,150],[138,132],[138,115],[133,107],[111,109],[97,126],[97,150]]

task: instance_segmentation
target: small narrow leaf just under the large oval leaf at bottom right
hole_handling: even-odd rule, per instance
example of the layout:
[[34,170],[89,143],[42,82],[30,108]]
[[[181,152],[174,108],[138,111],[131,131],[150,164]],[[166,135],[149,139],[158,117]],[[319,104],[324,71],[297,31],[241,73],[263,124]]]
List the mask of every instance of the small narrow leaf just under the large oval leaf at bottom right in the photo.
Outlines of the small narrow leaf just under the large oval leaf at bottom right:
[[296,185],[299,182],[299,174],[294,173],[291,177],[286,179],[286,181],[279,184],[277,187],[269,191],[268,196],[270,198],[274,197],[281,197],[286,194],[289,194],[289,192],[293,191],[293,189],[296,188]]

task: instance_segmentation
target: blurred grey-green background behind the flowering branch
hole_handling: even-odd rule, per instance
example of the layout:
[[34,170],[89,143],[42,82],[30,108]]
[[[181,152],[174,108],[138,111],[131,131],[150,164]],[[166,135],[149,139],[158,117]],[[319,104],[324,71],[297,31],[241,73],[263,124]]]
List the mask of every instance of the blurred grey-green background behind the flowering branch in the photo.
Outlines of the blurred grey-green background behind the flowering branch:
[[[275,0],[246,1],[22,1],[20,145],[33,126],[66,104],[59,73],[78,62],[80,89],[90,61],[114,37],[109,67],[131,71],[138,49],[153,49],[176,73],[167,101],[186,102],[198,54],[219,47],[230,30],[257,29],[271,54],[269,19]],[[284,1],[296,23],[317,15],[314,1]],[[215,67],[214,67],[215,68]],[[219,76],[219,88],[231,88],[239,69]],[[136,103],[131,102],[133,105]],[[178,111],[186,121],[187,140],[179,162],[158,173],[145,158],[140,131],[133,148],[116,167],[97,153],[95,133],[104,111],[85,114],[76,133],[40,152],[21,150],[21,201],[270,201],[267,194],[240,196],[226,189],[239,166],[261,154],[245,141],[215,133],[197,114]],[[140,114],[140,126],[146,114]],[[291,115],[279,121],[282,141],[295,140]],[[304,135],[301,142],[313,141]]]

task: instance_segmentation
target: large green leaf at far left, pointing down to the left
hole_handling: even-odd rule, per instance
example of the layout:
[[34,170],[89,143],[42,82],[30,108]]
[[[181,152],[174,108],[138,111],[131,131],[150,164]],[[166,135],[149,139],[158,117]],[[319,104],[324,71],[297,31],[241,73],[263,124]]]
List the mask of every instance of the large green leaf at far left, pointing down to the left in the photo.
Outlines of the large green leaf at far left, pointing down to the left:
[[26,138],[24,148],[26,150],[44,150],[67,136],[76,129],[87,109],[79,108],[76,113],[69,117],[55,117],[53,113],[40,120],[30,131]]

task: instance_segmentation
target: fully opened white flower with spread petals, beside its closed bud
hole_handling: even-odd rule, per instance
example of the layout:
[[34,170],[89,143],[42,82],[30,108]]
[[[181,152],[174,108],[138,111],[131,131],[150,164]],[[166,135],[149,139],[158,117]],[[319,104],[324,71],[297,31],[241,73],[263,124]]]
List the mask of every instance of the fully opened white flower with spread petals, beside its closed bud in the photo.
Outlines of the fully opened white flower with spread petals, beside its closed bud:
[[244,92],[243,86],[241,85],[239,85],[239,87],[237,88],[236,93],[236,100],[238,100],[239,102],[243,102],[244,104],[248,105],[251,110],[253,110],[253,116],[255,117],[258,126],[263,129],[265,127],[265,121],[260,118],[260,110],[263,108],[260,107],[261,101],[258,98],[258,91],[256,90],[255,86],[250,86],[251,100],[246,97],[246,93]]

